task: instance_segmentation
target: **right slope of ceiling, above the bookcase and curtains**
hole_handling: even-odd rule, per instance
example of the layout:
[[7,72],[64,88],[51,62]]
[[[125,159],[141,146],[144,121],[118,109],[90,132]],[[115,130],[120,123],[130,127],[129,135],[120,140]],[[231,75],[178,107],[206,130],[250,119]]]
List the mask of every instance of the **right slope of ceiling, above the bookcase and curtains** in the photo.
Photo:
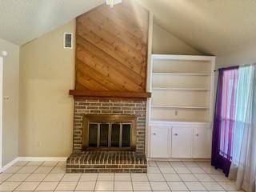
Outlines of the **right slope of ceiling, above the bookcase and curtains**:
[[256,43],[255,0],[138,0],[159,26],[206,54]]

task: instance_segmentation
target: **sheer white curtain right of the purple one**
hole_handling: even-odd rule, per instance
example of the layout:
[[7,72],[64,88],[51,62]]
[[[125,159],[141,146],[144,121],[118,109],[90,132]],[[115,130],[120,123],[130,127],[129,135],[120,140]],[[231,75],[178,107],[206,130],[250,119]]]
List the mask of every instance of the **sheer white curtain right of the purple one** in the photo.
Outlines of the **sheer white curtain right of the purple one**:
[[256,178],[256,67],[238,70],[238,88],[229,178],[238,190],[255,191]]

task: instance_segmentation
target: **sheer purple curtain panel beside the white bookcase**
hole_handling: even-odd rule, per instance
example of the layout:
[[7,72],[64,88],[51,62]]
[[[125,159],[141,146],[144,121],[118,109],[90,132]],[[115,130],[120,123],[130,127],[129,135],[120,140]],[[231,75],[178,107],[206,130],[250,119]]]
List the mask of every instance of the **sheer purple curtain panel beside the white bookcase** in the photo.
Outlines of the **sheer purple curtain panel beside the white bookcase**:
[[211,164],[226,176],[231,163],[237,82],[238,66],[219,70]]

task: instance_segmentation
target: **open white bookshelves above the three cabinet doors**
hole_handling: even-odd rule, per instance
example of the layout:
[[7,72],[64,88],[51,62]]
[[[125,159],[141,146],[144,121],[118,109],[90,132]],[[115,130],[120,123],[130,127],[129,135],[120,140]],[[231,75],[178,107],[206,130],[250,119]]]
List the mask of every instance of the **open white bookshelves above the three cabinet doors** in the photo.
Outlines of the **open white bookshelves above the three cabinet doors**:
[[150,120],[211,122],[214,57],[153,54]]

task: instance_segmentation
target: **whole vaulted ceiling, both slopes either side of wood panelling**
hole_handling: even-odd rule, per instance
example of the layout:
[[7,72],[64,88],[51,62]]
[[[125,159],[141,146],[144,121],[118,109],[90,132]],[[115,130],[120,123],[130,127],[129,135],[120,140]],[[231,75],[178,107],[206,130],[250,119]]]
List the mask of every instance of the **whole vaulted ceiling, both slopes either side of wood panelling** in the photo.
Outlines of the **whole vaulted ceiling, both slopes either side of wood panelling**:
[[[158,26],[205,54],[256,43],[254,0],[130,0],[151,10]],[[0,0],[0,38],[22,45],[104,0]]]

